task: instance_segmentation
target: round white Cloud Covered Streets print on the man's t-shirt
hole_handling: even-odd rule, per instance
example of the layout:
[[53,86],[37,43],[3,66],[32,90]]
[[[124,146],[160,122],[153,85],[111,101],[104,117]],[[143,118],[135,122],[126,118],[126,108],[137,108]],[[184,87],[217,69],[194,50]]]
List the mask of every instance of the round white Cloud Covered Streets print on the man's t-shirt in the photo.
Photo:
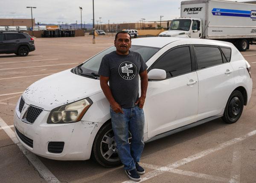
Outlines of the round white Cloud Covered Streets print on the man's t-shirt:
[[137,67],[135,64],[125,61],[119,65],[119,75],[125,80],[133,79],[137,74]]

